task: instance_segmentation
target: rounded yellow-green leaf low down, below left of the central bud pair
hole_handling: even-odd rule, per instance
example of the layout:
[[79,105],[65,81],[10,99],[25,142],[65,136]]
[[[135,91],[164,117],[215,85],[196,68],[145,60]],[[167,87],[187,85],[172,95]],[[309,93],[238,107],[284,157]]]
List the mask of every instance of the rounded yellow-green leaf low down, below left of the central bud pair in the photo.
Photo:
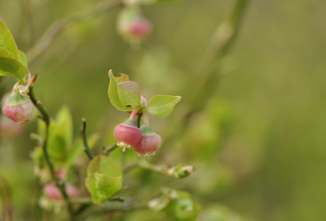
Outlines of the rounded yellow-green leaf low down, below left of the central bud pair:
[[102,203],[123,191],[122,177],[120,164],[113,158],[103,155],[94,157],[87,167],[86,178],[86,188],[93,202]]

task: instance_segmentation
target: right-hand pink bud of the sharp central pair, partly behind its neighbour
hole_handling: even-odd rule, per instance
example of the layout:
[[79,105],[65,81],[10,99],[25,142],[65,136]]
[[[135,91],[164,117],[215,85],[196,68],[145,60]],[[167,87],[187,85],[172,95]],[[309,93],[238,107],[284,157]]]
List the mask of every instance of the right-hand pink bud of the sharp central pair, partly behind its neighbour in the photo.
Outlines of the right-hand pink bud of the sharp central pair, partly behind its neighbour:
[[150,125],[142,125],[140,130],[142,131],[142,138],[134,145],[133,149],[140,157],[154,155],[155,151],[161,146],[161,136],[154,133]]

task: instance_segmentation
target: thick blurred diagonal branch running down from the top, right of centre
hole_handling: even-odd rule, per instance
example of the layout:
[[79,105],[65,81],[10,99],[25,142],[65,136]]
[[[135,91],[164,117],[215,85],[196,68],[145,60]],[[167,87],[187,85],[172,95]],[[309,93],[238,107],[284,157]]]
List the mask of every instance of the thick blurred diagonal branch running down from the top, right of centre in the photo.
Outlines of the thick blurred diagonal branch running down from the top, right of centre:
[[227,11],[222,23],[215,30],[208,43],[205,55],[203,55],[203,60],[198,67],[197,73],[201,74],[200,78],[196,78],[196,81],[193,83],[194,85],[190,87],[194,90],[193,95],[189,96],[191,98],[191,101],[189,101],[189,111],[181,118],[181,122],[180,120],[174,121],[176,126],[172,126],[172,128],[175,128],[175,130],[171,130],[171,134],[168,136],[169,138],[164,141],[162,146],[175,140],[186,130],[191,122],[191,117],[198,111],[201,111],[206,101],[208,101],[208,97],[213,94],[220,77],[218,64],[220,64],[220,60],[229,52],[230,47],[235,41],[235,37],[240,31],[242,16],[245,13],[248,2],[249,0],[232,1],[230,10]]

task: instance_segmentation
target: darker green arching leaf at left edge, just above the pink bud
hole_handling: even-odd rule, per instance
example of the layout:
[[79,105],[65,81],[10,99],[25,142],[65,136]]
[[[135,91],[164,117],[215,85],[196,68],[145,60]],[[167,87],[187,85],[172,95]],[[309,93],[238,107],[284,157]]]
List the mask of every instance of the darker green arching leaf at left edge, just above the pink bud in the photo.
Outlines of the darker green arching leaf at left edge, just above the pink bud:
[[30,71],[21,62],[10,57],[0,57],[0,76],[16,77],[21,84],[27,84],[26,75]]

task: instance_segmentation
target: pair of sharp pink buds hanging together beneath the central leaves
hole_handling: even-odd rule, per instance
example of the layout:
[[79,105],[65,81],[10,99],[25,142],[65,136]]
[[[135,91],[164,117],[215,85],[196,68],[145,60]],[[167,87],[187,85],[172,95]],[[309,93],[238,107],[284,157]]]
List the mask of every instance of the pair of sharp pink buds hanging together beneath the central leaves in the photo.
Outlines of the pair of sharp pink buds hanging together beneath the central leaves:
[[144,124],[138,128],[131,115],[128,120],[114,128],[114,137],[118,141],[118,146],[123,148],[123,152],[133,146],[140,157],[154,155],[162,143],[161,136],[154,133],[150,125]]

